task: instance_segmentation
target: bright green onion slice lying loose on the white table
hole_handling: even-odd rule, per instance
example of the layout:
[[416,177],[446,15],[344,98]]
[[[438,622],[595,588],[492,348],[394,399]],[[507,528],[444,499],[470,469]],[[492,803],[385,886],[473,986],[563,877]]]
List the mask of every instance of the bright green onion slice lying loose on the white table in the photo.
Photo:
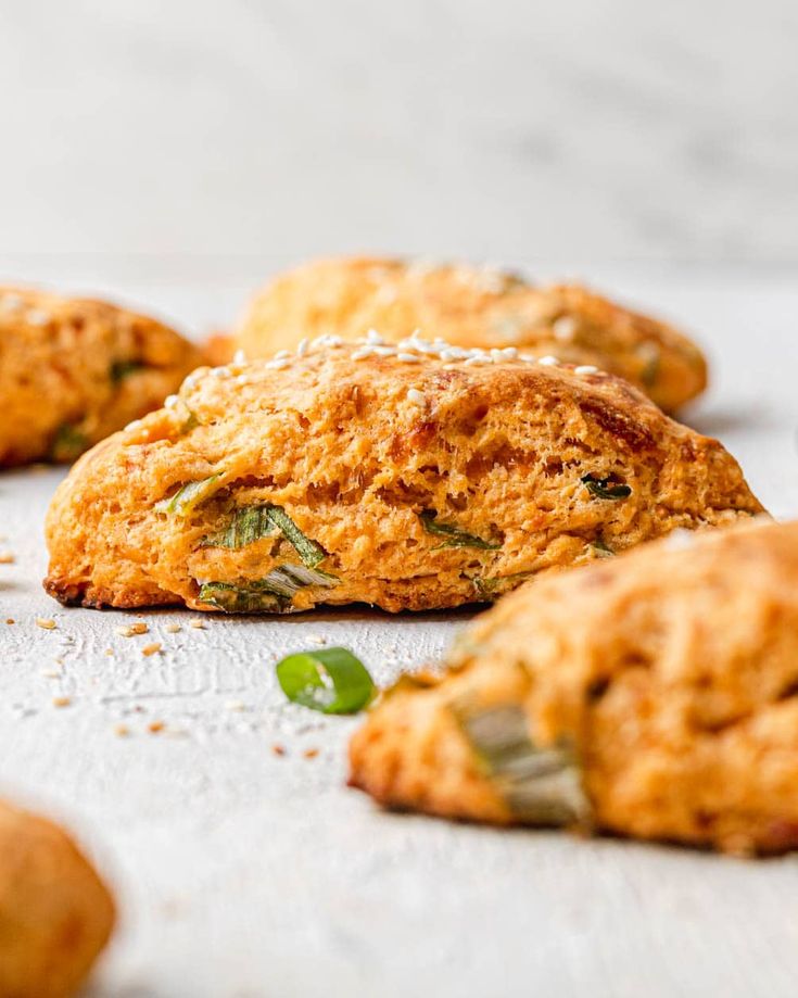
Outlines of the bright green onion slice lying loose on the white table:
[[346,648],[289,655],[277,664],[277,681],[292,703],[321,713],[357,713],[377,693],[366,667]]

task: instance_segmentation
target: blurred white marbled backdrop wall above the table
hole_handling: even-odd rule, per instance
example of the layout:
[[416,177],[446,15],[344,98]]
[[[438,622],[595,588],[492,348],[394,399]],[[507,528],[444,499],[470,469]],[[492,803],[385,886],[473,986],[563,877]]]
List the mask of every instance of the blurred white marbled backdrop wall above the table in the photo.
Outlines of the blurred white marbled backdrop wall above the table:
[[794,0],[0,10],[15,270],[364,249],[798,258]]

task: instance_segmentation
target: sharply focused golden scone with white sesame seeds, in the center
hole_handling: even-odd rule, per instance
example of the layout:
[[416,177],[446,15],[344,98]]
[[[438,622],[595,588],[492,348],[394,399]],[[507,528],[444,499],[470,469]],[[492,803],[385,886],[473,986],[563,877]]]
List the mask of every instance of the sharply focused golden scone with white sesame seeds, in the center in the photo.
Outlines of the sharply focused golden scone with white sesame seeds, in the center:
[[202,369],[99,444],[48,514],[48,592],[452,607],[761,509],[717,441],[610,375],[377,339]]

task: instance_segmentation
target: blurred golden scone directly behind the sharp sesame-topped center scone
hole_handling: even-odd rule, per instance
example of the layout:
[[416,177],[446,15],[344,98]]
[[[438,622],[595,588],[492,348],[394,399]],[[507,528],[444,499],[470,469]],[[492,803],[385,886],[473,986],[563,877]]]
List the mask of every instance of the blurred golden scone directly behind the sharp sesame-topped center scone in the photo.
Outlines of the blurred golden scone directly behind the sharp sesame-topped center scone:
[[293,350],[306,336],[345,340],[377,329],[389,341],[419,328],[461,346],[518,346],[594,364],[639,388],[667,412],[698,395],[706,361],[686,337],[578,285],[534,287],[495,268],[335,258],[276,278],[238,331],[248,356]]

